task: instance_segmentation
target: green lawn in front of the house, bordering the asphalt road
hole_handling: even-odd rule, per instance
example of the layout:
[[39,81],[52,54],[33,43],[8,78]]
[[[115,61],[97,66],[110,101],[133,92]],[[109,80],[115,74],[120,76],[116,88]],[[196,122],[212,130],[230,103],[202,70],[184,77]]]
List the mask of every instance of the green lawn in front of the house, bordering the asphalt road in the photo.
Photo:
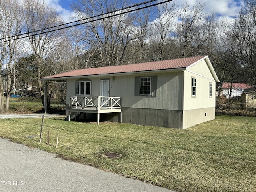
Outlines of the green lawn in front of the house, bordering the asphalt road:
[[0,137],[176,191],[256,191],[255,117],[218,115],[186,130],[45,118],[39,143],[41,121],[0,119]]

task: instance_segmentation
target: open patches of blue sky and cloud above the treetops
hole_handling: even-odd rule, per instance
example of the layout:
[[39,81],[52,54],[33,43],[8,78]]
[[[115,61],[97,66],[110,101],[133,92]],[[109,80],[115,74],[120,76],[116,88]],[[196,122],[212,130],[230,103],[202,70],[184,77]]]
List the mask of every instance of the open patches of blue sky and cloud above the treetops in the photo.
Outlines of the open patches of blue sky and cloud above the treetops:
[[[178,6],[182,6],[185,2],[191,6],[195,5],[198,0],[174,0]],[[52,8],[56,9],[63,17],[65,22],[69,22],[69,17],[72,15],[70,4],[76,2],[76,0],[46,0]],[[141,3],[143,0],[131,0],[133,4]],[[205,4],[204,11],[211,14],[215,12],[219,16],[234,17],[237,16],[243,0],[200,0],[202,4]]]

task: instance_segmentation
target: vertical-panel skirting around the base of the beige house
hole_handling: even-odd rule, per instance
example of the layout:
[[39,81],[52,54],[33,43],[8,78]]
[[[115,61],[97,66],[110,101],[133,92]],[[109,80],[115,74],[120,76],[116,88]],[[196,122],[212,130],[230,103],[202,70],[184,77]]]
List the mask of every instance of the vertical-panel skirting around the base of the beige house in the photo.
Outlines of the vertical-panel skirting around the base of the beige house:
[[100,115],[100,121],[112,121],[168,128],[186,129],[196,124],[215,119],[215,107],[194,110],[160,110],[122,107],[120,113]]

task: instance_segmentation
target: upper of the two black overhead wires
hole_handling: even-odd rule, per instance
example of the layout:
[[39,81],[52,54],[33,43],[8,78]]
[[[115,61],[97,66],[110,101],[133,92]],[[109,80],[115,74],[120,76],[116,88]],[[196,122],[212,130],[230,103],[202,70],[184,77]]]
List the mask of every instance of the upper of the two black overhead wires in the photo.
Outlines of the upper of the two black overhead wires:
[[[64,24],[60,24],[60,25],[56,25],[56,26],[52,26],[52,27],[48,27],[48,28],[44,28],[44,29],[40,29],[40,30],[30,31],[30,32],[26,32],[26,33],[14,35],[14,36],[6,37],[6,38],[1,38],[0,40],[4,40],[4,39],[7,39],[7,38],[13,38],[13,37],[16,37],[16,36],[21,36],[21,35],[26,35],[26,34],[30,34],[30,33],[35,33],[35,32],[39,32],[39,31],[42,31],[42,30],[48,30],[48,29],[51,29],[51,28],[60,27],[60,26],[64,26],[64,25],[68,25],[68,24],[72,24],[72,23],[76,23],[76,22],[80,22],[80,21],[83,21],[83,20],[92,19],[94,17],[104,16],[106,14],[111,14],[113,12],[126,10],[126,9],[137,7],[137,6],[140,6],[140,5],[143,5],[143,4],[148,4],[148,3],[151,3],[151,2],[154,2],[154,1],[157,1],[157,0],[150,0],[150,1],[147,1],[147,2],[135,4],[135,5],[132,5],[132,6],[125,7],[125,8],[120,8],[118,10],[110,11],[110,12],[107,12],[107,13],[102,13],[102,14],[99,14],[99,15],[96,15],[96,16],[92,16],[92,17],[89,17],[89,18],[80,19],[80,20],[76,20],[76,21],[72,21],[72,22],[69,22],[69,23],[64,23]],[[3,41],[3,42],[5,42],[5,41]]]

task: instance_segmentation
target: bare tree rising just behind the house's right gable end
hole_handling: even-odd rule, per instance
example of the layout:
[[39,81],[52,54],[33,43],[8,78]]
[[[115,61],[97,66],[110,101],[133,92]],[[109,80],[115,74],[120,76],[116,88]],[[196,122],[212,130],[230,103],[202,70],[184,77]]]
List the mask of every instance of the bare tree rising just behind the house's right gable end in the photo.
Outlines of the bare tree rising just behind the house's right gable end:
[[232,71],[236,67],[234,60],[234,51],[229,33],[232,29],[232,20],[228,18],[216,17],[213,13],[206,20],[206,47],[204,54],[208,55],[211,63],[218,75],[220,83],[217,84],[219,96],[221,96],[222,84],[224,81],[231,82]]

